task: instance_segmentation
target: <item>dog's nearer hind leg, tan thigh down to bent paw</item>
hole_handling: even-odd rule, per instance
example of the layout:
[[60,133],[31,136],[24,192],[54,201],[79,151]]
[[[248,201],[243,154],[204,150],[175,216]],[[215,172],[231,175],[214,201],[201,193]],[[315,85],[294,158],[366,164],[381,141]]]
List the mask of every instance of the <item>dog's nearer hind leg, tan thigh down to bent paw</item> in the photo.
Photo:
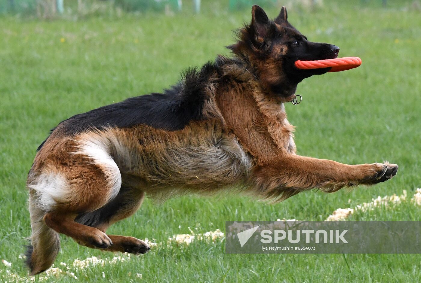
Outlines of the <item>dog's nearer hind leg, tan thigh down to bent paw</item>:
[[[65,185],[55,188],[55,204],[47,209],[43,220],[58,233],[72,237],[78,243],[100,249],[112,245],[112,240],[101,230],[75,222],[80,212],[101,208],[116,196],[121,186],[120,172],[110,180],[104,167],[86,163],[83,158],[69,156],[73,165],[61,168]],[[115,165],[115,170],[118,170]],[[118,187],[117,187],[118,186]]]

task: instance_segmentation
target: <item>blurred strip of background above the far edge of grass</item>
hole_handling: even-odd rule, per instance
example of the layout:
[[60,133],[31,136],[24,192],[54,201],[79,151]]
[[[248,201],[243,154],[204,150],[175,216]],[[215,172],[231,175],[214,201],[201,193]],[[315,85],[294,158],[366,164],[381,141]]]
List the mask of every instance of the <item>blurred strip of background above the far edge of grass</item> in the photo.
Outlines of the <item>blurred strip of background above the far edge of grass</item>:
[[1,0],[0,13],[40,19],[77,19],[93,15],[120,17],[123,16],[123,12],[150,11],[162,12],[166,15],[182,12],[218,14],[250,8],[253,4],[266,8],[285,5],[289,8],[314,10],[324,5],[330,6],[341,2],[354,3],[361,8],[383,7],[406,11],[421,8],[419,0]]

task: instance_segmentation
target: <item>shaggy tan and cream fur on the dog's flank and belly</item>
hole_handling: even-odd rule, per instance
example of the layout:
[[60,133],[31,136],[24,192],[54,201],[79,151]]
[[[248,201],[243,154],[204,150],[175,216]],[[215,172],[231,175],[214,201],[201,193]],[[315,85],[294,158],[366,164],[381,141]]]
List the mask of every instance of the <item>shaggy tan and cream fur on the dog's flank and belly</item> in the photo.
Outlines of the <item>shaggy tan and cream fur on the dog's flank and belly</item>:
[[251,166],[236,137],[225,134],[215,121],[193,122],[174,132],[139,125],[75,138],[80,143],[101,139],[109,143],[123,183],[140,186],[157,201],[240,184]]

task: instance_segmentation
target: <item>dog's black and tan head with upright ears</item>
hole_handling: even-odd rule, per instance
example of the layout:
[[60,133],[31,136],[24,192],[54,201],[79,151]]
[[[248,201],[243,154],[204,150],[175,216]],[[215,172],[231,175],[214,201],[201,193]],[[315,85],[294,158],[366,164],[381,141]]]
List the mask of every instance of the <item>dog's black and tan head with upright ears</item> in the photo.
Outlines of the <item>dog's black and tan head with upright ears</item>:
[[285,7],[273,21],[258,5],[253,5],[251,15],[251,23],[240,30],[239,41],[229,48],[252,65],[260,81],[272,93],[288,97],[293,95],[298,82],[330,70],[301,70],[294,66],[297,60],[336,58],[339,48],[307,40],[288,22]]

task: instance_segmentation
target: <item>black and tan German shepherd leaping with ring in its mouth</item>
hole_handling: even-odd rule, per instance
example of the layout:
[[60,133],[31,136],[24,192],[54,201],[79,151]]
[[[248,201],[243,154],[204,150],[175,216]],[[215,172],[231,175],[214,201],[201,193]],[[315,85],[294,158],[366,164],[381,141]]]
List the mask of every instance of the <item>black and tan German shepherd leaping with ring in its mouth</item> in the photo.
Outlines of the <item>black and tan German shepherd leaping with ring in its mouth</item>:
[[35,275],[59,251],[59,233],[94,249],[133,254],[150,248],[133,237],[107,235],[144,196],[238,190],[278,202],[304,190],[335,192],[392,178],[396,164],[347,165],[296,155],[284,103],[297,84],[329,68],[300,70],[296,60],[336,58],[339,48],[310,42],[287,20],[257,5],[251,23],[200,69],[187,70],[163,93],[142,95],[75,115],[40,145],[29,171]]

